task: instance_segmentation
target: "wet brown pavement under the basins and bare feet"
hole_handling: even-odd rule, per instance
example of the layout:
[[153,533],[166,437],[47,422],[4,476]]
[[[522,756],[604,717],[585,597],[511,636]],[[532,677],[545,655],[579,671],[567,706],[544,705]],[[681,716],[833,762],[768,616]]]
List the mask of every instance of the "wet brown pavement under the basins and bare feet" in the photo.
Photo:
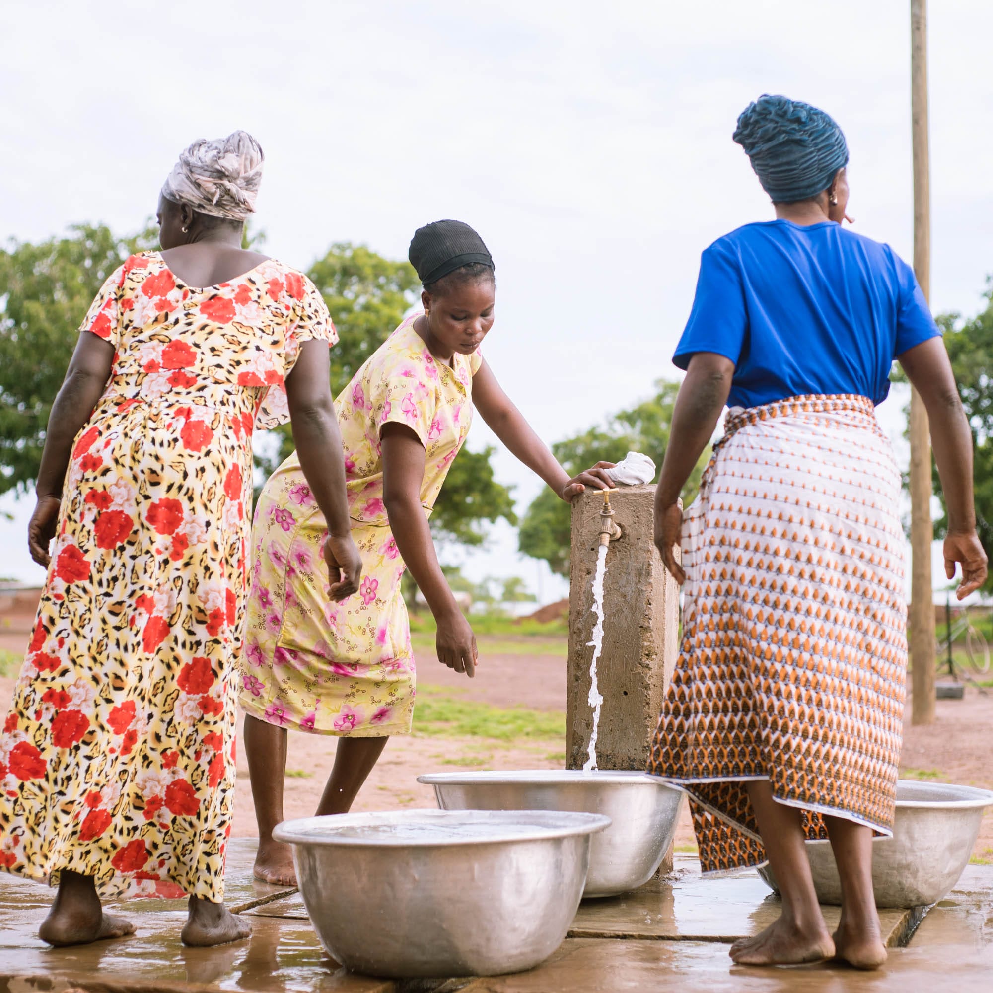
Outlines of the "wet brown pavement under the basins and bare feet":
[[[48,947],[37,937],[52,891],[0,875],[0,993],[33,990],[203,990],[274,993],[587,993],[587,991],[835,991],[993,988],[993,866],[969,866],[948,899],[922,914],[882,912],[892,951],[877,973],[835,966],[751,969],[732,965],[728,942],[775,919],[779,903],[758,876],[702,880],[695,860],[636,893],[584,903],[569,937],[527,973],[486,979],[396,982],[349,973],[321,948],[299,894],[251,878],[254,843],[232,842],[229,906],[252,920],[246,941],[185,948],[183,901],[117,908],[138,924],[119,941]],[[829,926],[837,909],[825,908]],[[921,920],[922,919],[922,920]],[[917,928],[915,930],[915,928]]]

